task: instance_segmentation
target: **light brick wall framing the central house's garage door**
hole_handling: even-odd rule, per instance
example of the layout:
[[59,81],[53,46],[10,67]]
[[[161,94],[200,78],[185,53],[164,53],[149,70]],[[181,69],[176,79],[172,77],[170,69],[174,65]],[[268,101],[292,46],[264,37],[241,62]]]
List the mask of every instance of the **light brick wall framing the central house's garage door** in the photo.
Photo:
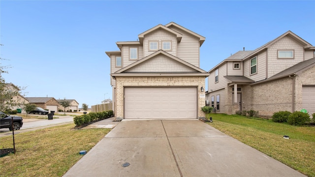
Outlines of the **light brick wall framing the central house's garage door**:
[[170,77],[116,77],[116,117],[124,118],[124,87],[198,87],[198,118],[205,117],[201,108],[205,106],[205,98],[200,98],[201,87],[205,88],[204,76],[170,76]]

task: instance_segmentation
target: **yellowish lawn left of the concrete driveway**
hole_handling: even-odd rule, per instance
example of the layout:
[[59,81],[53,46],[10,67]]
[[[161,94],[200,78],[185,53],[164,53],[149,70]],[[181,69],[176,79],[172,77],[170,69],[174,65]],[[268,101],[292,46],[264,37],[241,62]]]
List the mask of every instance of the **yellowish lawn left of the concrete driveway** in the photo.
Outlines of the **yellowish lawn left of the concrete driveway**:
[[[111,129],[72,129],[70,123],[15,137],[16,154],[0,158],[0,177],[62,177]],[[0,148],[13,148],[12,136],[0,139]]]

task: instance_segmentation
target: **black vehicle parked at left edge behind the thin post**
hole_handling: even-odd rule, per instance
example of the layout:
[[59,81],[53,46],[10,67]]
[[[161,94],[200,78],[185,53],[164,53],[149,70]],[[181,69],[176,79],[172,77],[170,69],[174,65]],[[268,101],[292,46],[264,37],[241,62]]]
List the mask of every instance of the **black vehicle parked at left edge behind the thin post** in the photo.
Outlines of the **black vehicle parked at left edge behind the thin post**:
[[23,118],[20,116],[8,116],[0,111],[0,128],[9,128],[12,131],[12,117],[14,130],[20,130],[23,125]]

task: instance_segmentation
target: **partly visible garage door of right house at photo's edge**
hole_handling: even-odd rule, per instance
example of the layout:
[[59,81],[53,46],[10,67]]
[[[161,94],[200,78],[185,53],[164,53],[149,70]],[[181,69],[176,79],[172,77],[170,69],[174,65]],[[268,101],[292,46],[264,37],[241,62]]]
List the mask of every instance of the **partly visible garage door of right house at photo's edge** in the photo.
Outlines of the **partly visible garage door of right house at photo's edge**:
[[312,114],[315,113],[315,86],[303,86],[302,90],[302,107],[312,116]]

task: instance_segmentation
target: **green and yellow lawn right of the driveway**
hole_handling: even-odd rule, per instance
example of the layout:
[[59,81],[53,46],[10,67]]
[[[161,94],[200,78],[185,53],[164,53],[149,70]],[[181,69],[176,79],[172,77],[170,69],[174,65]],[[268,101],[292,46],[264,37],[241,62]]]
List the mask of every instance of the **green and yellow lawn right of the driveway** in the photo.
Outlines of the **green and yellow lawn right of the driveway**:
[[[268,119],[211,114],[209,125],[285,165],[315,177],[315,127],[299,127]],[[284,139],[283,136],[289,136]]]

